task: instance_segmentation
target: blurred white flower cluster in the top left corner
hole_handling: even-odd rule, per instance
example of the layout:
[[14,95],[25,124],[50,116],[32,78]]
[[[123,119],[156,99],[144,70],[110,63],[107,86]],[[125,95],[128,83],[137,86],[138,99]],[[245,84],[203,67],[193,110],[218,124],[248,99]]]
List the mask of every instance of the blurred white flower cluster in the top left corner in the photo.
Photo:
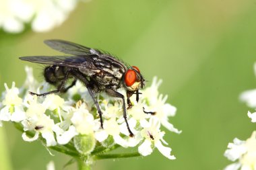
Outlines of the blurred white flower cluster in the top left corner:
[[26,24],[34,32],[46,32],[61,25],[78,0],[0,0],[0,29],[19,33]]

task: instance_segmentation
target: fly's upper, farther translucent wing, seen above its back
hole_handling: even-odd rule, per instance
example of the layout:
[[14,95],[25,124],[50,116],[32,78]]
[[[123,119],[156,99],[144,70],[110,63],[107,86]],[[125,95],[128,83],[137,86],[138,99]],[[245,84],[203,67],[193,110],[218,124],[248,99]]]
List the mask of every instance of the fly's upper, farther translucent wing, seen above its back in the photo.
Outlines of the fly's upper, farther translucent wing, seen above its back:
[[53,48],[54,50],[58,50],[60,52],[64,52],[66,54],[71,54],[75,56],[83,56],[90,54],[99,56],[100,54],[102,54],[99,50],[94,50],[93,48],[88,48],[86,46],[82,46],[65,40],[45,40],[44,43],[47,46]]

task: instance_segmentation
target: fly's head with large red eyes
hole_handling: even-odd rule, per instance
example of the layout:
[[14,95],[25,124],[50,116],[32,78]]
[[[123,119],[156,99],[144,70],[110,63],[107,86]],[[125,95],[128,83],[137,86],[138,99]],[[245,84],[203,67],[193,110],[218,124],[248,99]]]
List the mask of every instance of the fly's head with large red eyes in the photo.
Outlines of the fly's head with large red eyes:
[[133,66],[125,72],[123,77],[124,86],[128,91],[137,91],[145,86],[145,80],[141,75],[139,68]]

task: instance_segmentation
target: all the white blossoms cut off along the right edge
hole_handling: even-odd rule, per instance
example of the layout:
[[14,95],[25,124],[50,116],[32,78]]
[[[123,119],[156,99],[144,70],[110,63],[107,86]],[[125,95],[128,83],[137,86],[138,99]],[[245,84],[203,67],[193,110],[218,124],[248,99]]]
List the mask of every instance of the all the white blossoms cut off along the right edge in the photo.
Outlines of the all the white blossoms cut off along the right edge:
[[[254,71],[256,75],[256,63]],[[256,108],[256,89],[243,92],[240,98],[250,108]],[[251,118],[251,122],[256,122],[256,112],[248,112],[247,115]],[[234,138],[233,143],[228,144],[228,149],[224,156],[230,161],[237,161],[228,165],[224,170],[256,170],[256,131],[247,140]]]

